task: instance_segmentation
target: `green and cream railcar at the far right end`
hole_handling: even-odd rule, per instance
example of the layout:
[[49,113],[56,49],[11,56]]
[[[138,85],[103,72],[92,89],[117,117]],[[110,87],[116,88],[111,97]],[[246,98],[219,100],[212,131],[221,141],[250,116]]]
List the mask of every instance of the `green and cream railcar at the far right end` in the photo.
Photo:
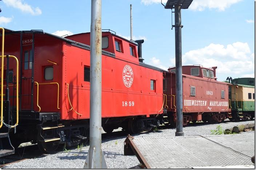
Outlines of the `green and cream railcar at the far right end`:
[[255,81],[254,78],[236,78],[229,87],[231,100],[230,120],[239,121],[255,117]]

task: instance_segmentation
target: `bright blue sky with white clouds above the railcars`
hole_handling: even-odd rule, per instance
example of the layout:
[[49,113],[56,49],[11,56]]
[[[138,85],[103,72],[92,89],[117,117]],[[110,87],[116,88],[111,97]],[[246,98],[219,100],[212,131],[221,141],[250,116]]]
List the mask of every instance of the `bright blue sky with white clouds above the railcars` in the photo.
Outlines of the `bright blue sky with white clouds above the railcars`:
[[[102,28],[130,39],[132,4],[133,39],[145,40],[144,62],[167,69],[175,65],[175,31],[171,10],[160,2],[102,0]],[[43,29],[60,36],[90,31],[91,0],[2,0],[0,8],[0,27],[15,31]],[[254,12],[254,0],[194,0],[181,14],[183,65],[217,66],[219,81],[254,77]]]

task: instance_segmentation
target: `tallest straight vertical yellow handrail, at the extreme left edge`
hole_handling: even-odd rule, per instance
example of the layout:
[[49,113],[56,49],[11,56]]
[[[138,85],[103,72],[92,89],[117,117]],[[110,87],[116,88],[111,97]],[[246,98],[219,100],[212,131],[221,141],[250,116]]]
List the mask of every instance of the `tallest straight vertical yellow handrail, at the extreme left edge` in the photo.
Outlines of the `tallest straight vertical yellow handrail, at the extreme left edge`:
[[[0,27],[2,30],[2,56],[4,56],[4,28]],[[1,60],[1,78],[4,77],[4,57]],[[18,76],[18,75],[17,75]],[[3,107],[4,107],[4,81],[1,81],[1,123],[0,128],[3,126]]]

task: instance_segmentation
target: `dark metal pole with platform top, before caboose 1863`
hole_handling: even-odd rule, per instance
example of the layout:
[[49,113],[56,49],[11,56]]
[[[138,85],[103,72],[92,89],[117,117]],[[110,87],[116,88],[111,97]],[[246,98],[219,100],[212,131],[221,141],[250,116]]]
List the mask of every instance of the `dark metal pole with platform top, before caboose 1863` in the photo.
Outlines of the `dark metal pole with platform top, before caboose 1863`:
[[[165,9],[175,10],[175,74],[176,74],[176,132],[175,136],[184,136],[183,132],[183,82],[181,50],[181,9],[188,9],[193,0],[168,0]],[[173,12],[172,12],[173,13]]]

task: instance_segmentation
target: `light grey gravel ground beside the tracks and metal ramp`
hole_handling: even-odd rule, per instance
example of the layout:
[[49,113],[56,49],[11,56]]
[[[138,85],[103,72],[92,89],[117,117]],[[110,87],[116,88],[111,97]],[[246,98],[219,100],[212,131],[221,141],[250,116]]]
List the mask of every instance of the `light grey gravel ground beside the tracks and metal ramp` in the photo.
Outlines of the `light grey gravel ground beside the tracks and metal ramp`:
[[[184,127],[184,135],[210,135],[210,130],[221,125],[223,129],[232,128],[237,125],[245,125],[255,123],[252,121],[245,122],[230,122],[226,121],[221,124],[205,124]],[[115,130],[119,131],[121,128]],[[151,133],[141,133],[134,135],[135,137],[156,137],[156,136],[175,136],[175,129],[160,129]],[[104,131],[103,131],[104,132]],[[254,131],[244,133],[255,133]],[[127,169],[139,164],[136,156],[124,156],[124,140],[126,136],[108,137],[102,141],[102,150],[108,168]],[[89,146],[84,146],[81,149],[67,149],[54,154],[44,154],[34,159],[27,159],[21,162],[12,163],[4,168],[16,169],[76,169],[83,168],[87,156]]]

